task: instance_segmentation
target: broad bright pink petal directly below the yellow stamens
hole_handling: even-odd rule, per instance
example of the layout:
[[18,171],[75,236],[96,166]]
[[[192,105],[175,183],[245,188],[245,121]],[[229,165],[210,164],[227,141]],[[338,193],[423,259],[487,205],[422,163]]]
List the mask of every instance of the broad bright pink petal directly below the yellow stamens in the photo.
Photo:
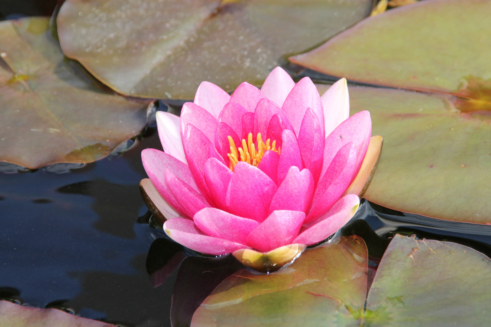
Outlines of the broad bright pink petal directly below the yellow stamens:
[[268,216],[271,199],[278,187],[257,167],[239,161],[227,189],[227,211],[262,222]]

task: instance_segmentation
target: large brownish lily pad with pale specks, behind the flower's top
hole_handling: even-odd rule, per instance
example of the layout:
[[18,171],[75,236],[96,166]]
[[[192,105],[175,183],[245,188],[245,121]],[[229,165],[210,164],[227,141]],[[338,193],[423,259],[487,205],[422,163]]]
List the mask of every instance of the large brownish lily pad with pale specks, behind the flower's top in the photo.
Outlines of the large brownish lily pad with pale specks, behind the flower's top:
[[372,0],[67,0],[63,52],[114,90],[192,99],[203,80],[260,85],[277,65],[370,14]]

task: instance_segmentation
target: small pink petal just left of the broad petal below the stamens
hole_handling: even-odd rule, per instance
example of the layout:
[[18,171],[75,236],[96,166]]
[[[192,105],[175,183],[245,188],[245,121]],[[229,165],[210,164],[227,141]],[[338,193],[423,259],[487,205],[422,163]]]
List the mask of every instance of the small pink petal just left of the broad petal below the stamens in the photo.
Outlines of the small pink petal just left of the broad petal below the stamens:
[[215,158],[210,158],[205,163],[206,185],[215,204],[220,209],[226,209],[225,196],[232,175],[232,171]]

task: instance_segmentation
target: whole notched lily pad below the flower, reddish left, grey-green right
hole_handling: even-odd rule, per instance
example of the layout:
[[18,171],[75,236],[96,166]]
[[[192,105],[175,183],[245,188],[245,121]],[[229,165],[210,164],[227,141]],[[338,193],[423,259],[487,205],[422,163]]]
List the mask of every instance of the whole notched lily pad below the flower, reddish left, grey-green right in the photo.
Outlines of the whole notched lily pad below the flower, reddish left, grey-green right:
[[240,271],[201,304],[191,327],[486,326],[491,319],[491,260],[480,252],[395,235],[367,298],[366,258],[365,243],[351,236],[305,251],[281,275]]

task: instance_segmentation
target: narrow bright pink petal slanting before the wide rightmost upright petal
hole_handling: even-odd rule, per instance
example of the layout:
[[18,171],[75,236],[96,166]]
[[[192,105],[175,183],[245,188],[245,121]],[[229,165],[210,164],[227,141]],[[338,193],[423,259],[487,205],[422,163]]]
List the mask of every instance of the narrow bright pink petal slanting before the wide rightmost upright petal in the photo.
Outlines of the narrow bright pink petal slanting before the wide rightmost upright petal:
[[356,149],[355,144],[350,142],[336,153],[326,174],[317,185],[305,223],[312,222],[324,215],[341,198],[353,181],[355,168]]

